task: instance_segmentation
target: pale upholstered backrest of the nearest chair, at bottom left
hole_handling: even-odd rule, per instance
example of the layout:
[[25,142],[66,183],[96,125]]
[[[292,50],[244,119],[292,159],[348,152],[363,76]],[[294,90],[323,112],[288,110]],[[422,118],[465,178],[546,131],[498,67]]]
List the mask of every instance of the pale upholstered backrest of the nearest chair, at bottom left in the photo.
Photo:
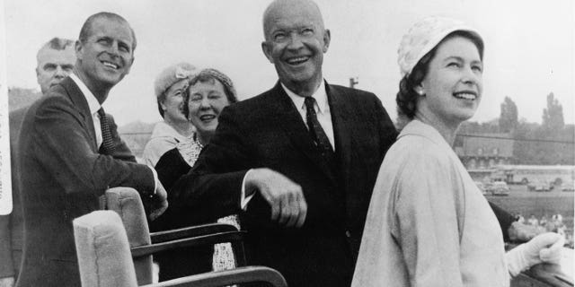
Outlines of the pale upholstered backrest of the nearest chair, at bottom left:
[[73,224],[83,287],[137,286],[128,236],[117,213],[95,211]]

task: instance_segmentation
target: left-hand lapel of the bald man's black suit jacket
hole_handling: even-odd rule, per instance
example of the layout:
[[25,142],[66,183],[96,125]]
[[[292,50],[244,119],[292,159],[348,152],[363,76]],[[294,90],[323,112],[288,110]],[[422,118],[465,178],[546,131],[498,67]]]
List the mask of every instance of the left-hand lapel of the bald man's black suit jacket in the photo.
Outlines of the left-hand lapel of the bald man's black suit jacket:
[[288,134],[288,138],[298,150],[304,152],[310,161],[314,162],[320,170],[323,170],[329,178],[335,180],[332,170],[322,158],[322,155],[316,151],[314,142],[309,135],[303,118],[297,111],[296,105],[289,99],[288,94],[279,82],[273,88],[272,93],[274,94],[274,99],[270,101],[270,107],[274,114],[277,115],[276,118],[280,119],[278,121],[279,126]]

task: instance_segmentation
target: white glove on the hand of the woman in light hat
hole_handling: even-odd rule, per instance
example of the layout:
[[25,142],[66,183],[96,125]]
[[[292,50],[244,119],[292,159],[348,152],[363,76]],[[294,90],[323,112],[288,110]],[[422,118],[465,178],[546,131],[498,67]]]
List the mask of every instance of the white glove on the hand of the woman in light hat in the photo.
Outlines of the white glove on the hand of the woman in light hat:
[[565,239],[557,233],[547,232],[535,236],[505,254],[509,274],[515,277],[527,268],[547,262],[559,264]]

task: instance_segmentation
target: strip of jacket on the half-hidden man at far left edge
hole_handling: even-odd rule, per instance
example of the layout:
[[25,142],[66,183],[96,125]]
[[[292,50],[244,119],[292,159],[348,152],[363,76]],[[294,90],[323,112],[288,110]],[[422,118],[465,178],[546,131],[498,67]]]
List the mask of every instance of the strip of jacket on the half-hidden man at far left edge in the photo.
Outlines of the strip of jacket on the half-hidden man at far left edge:
[[12,173],[12,213],[0,216],[0,278],[17,276],[22,261],[22,204],[18,191],[18,135],[28,107],[10,113],[10,169]]

